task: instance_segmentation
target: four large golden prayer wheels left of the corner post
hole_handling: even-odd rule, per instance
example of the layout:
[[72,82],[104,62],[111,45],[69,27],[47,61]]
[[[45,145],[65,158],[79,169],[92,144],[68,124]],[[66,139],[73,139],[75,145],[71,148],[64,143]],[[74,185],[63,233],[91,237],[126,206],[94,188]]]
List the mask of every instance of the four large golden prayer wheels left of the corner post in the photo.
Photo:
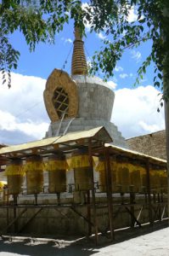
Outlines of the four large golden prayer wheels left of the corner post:
[[[68,166],[68,163],[69,166]],[[8,178],[8,194],[18,195],[22,191],[24,176],[26,176],[27,194],[39,194],[43,191],[43,171],[48,171],[48,192],[62,193],[66,191],[66,170],[74,169],[75,189],[88,190],[93,187],[92,170],[89,167],[88,154],[77,150],[70,160],[65,155],[52,154],[46,164],[42,157],[33,155],[25,160],[11,160],[5,173]]]

